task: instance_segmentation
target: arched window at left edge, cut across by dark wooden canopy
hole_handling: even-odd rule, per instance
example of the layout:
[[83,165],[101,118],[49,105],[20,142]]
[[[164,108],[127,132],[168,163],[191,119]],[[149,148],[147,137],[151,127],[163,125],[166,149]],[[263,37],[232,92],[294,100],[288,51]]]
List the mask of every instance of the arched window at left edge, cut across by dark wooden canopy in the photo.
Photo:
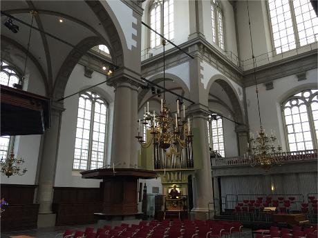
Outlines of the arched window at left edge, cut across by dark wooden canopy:
[[[21,77],[12,66],[1,61],[0,84],[13,88],[13,84],[15,83],[21,83]],[[13,137],[7,135],[0,137],[0,159],[7,157],[12,139]]]

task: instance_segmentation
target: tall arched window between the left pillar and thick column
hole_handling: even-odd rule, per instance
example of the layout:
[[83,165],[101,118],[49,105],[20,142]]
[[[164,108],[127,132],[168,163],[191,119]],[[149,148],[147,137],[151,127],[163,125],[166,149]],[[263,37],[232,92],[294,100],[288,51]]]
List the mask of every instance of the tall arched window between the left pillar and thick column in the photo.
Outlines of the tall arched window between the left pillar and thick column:
[[108,106],[95,92],[79,95],[73,169],[104,166]]

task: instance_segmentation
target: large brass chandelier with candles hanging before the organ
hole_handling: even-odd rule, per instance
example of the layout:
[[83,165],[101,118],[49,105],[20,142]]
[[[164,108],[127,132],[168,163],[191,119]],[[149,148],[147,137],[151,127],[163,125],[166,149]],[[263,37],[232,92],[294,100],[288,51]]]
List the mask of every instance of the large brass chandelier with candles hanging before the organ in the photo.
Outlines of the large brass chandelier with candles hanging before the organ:
[[[138,123],[138,142],[142,148],[148,148],[158,145],[164,151],[171,146],[176,150],[178,148],[186,148],[192,141],[192,133],[189,118],[185,117],[185,105],[183,105],[183,117],[180,114],[180,100],[177,99],[177,113],[171,117],[169,108],[165,101],[165,39],[162,39],[163,46],[163,99],[161,99],[161,110],[159,114],[149,112],[149,102],[147,102],[147,110],[144,108],[144,119],[139,119]],[[141,125],[144,128],[150,128],[151,139],[144,141],[141,135]]]

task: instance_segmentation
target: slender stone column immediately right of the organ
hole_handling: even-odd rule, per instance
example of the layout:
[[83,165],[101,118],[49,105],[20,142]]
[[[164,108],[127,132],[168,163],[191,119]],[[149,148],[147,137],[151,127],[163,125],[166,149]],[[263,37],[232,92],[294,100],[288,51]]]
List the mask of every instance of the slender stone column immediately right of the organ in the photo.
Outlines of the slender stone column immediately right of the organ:
[[191,216],[194,219],[208,218],[208,203],[213,202],[211,161],[209,158],[209,141],[207,139],[208,108],[201,104],[189,106],[191,127],[194,132],[194,208]]

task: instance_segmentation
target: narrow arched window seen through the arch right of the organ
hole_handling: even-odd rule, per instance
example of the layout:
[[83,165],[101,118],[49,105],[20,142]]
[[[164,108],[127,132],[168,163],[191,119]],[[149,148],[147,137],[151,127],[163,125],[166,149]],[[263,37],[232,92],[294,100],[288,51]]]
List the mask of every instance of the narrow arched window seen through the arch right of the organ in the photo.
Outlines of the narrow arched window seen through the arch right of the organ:
[[223,138],[223,120],[218,115],[210,115],[207,120],[207,135],[209,146],[217,151],[222,157],[225,157],[224,138]]

